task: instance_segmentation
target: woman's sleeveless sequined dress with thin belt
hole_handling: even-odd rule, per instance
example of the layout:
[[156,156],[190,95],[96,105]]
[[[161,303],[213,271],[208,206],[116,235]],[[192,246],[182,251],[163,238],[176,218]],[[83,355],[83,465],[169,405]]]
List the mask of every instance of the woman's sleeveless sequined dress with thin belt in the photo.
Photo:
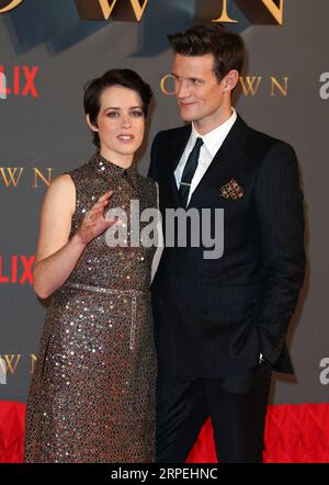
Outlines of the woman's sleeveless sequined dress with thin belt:
[[[155,182],[134,167],[95,155],[69,173],[77,200],[71,235],[107,190],[115,191],[109,208],[127,213],[127,230],[132,200],[139,212],[157,206]],[[103,234],[53,295],[26,404],[26,462],[155,460],[154,253],[129,240],[110,247]]]

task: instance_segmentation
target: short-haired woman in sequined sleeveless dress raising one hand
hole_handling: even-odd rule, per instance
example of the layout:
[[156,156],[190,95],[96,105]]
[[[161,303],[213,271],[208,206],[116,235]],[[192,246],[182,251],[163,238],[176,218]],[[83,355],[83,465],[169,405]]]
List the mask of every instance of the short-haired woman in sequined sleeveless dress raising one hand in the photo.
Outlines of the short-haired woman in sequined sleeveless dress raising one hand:
[[107,208],[126,211],[129,234],[131,200],[140,212],[157,206],[155,182],[133,163],[150,98],[129,69],[93,80],[84,111],[99,151],[46,194],[34,289],[42,298],[55,293],[27,398],[26,462],[154,461],[155,247],[113,246],[106,237],[122,224]]

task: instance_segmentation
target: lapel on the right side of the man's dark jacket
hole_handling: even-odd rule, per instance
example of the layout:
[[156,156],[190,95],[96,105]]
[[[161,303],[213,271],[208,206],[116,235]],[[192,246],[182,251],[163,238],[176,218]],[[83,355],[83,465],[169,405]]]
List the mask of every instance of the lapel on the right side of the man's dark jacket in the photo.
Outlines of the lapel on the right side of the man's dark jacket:
[[245,162],[248,126],[238,115],[222,147],[194,190],[189,207],[207,206],[218,196],[218,189],[227,183]]

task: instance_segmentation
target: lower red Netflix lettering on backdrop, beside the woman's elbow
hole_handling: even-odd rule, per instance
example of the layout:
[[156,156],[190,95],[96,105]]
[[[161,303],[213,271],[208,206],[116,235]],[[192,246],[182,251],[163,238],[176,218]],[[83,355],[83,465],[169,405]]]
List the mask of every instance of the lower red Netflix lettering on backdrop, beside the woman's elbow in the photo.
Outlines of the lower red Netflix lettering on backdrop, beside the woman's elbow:
[[0,284],[33,284],[32,266],[35,256],[0,255]]

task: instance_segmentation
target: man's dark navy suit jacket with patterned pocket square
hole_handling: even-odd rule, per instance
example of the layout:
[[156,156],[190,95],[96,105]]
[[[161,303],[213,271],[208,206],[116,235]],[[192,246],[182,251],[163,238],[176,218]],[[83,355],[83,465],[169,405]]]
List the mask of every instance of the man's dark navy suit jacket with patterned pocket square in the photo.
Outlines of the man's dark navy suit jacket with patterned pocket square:
[[[190,134],[191,126],[163,131],[152,144],[149,176],[163,221],[166,210],[180,207],[173,172]],[[242,196],[223,196],[231,180]],[[224,208],[224,253],[204,259],[202,246],[164,247],[151,289],[159,374],[226,376],[256,366],[260,352],[274,370],[292,373],[285,337],[305,268],[293,148],[238,116],[190,207],[211,210],[212,223]]]

